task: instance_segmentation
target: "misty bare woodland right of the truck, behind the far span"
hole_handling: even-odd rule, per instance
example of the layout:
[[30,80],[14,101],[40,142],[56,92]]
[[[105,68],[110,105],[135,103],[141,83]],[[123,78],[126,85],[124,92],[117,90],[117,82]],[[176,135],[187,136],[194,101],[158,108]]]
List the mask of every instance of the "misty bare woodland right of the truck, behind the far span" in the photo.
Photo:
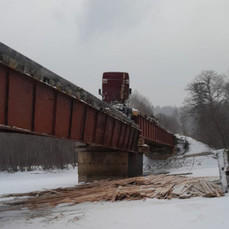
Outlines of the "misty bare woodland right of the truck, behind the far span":
[[186,91],[182,107],[153,107],[139,92],[134,92],[130,105],[153,114],[173,133],[191,136],[216,149],[228,148],[228,78],[215,71],[202,71],[187,85]]

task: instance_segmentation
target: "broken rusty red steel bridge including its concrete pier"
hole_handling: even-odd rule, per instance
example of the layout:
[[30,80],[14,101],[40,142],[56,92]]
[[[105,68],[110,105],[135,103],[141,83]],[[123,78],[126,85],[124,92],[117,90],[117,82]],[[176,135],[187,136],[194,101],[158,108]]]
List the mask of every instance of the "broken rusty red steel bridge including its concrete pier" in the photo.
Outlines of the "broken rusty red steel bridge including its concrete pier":
[[133,119],[0,43],[0,131],[80,142],[79,180],[142,174],[142,152],[173,149],[175,137],[152,117]]

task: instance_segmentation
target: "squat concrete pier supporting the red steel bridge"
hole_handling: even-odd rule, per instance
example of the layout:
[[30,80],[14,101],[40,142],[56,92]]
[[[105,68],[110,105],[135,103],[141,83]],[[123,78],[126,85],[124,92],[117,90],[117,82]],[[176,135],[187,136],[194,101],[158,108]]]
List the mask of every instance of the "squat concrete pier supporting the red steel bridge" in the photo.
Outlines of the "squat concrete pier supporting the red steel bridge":
[[79,182],[141,176],[143,154],[103,147],[78,148]]

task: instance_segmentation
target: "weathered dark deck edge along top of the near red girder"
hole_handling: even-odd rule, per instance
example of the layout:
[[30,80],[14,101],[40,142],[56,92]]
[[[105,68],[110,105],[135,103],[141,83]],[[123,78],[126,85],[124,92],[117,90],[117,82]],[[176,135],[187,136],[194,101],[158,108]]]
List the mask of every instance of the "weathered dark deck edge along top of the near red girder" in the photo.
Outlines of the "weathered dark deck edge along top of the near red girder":
[[101,101],[97,97],[93,96],[83,88],[76,86],[75,84],[65,80],[50,70],[44,68],[40,64],[20,54],[19,52],[11,49],[5,44],[0,42],[0,62],[11,69],[26,74],[31,78],[34,78],[40,82],[43,82],[51,87],[54,87],[73,98],[78,98],[91,106],[103,110],[105,113],[109,113],[110,116],[115,116],[123,122],[133,123],[122,112]]

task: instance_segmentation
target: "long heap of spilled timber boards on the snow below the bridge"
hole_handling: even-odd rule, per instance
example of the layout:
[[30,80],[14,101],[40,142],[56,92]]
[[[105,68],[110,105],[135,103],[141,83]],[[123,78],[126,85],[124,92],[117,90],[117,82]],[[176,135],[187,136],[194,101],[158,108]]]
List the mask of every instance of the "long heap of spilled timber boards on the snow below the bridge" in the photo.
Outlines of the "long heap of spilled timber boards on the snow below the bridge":
[[4,197],[29,196],[11,205],[30,209],[58,204],[79,204],[95,201],[140,200],[146,198],[171,199],[190,197],[220,197],[221,187],[207,178],[171,175],[149,175],[120,180],[95,181],[70,188],[58,188],[40,192],[10,194]]

